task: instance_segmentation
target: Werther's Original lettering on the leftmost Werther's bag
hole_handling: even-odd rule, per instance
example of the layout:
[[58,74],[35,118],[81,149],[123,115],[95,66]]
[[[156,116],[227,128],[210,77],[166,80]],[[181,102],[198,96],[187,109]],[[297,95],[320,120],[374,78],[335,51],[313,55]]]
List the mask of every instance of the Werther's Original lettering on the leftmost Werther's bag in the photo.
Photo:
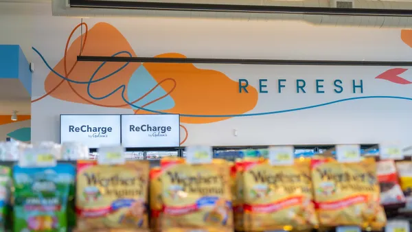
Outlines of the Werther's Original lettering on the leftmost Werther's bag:
[[100,176],[100,174],[84,173],[88,186],[97,186],[104,188],[100,191],[104,195],[115,195],[118,198],[141,196],[144,189],[144,180],[137,176]]

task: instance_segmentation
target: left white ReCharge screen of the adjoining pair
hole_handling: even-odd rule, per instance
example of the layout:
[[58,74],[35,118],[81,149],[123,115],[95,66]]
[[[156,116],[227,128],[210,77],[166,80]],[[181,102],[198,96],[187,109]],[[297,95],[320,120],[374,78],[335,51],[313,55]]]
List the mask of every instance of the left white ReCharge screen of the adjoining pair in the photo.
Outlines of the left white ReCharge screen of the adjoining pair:
[[89,148],[120,144],[120,115],[60,115],[60,143]]

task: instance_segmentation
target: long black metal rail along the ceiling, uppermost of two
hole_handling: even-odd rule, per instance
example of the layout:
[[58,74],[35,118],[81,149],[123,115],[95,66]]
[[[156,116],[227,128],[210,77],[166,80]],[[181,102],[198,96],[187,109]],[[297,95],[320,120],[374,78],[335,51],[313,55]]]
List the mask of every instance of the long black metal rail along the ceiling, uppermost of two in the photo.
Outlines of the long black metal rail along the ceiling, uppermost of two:
[[232,5],[199,3],[161,3],[144,1],[71,0],[74,8],[115,8],[134,10],[174,10],[197,12],[244,12],[275,14],[358,15],[358,16],[412,16],[412,10],[363,9],[363,8],[317,8],[277,5]]

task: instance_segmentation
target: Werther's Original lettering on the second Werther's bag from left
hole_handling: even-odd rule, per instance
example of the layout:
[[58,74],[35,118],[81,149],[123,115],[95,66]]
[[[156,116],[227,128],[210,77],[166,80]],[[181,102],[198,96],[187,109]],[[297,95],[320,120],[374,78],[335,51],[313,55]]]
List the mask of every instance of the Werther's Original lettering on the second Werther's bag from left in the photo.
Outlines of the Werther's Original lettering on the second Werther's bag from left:
[[183,192],[192,192],[199,194],[224,194],[225,178],[218,175],[196,176],[182,175],[178,172],[166,172],[172,185],[180,185]]

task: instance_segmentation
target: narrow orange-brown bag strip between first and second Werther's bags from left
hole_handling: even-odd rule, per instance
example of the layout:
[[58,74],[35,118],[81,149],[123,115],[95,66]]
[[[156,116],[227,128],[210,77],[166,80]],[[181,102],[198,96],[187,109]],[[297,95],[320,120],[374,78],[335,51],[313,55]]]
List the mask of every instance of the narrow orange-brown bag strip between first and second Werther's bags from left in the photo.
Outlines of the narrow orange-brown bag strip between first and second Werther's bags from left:
[[163,203],[161,199],[161,169],[153,167],[150,170],[150,229],[161,231],[161,214]]

